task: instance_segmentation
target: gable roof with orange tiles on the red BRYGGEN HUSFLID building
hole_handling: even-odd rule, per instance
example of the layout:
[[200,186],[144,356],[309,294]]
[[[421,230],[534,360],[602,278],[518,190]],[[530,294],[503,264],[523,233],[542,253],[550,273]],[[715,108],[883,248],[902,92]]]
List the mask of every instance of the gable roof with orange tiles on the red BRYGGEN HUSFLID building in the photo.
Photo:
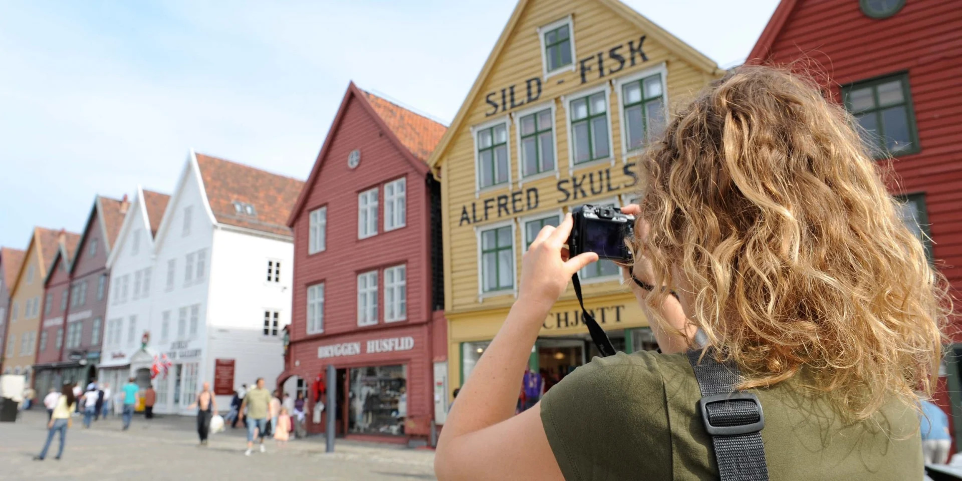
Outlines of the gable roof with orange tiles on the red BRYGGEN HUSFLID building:
[[300,215],[301,210],[304,209],[304,203],[307,202],[310,195],[310,186],[315,184],[320,166],[327,157],[327,151],[331,148],[331,140],[334,139],[335,132],[341,126],[344,114],[347,112],[347,105],[351,99],[358,101],[358,105],[371,116],[374,123],[394,143],[397,150],[418,171],[418,174],[427,175],[429,171],[427,167],[428,158],[438,142],[443,139],[447,127],[436,120],[405,109],[390,100],[359,89],[354,82],[351,82],[344,92],[341,106],[338,107],[338,114],[335,114],[334,121],[331,122],[331,127],[327,130],[327,137],[324,138],[324,143],[321,145],[314,166],[311,168],[311,175],[308,176],[304,189],[297,196],[297,201],[291,209],[291,215],[287,219],[288,226],[294,225],[297,215]]

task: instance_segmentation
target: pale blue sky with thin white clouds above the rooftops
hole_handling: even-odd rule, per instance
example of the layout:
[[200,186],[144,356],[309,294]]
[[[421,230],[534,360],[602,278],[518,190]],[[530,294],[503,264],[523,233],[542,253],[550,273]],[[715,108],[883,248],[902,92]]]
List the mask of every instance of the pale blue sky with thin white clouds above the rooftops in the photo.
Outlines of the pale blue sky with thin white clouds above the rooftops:
[[[721,66],[777,0],[625,3]],[[306,178],[354,80],[445,123],[515,0],[5,2],[0,245],[96,193],[170,192],[190,148]]]

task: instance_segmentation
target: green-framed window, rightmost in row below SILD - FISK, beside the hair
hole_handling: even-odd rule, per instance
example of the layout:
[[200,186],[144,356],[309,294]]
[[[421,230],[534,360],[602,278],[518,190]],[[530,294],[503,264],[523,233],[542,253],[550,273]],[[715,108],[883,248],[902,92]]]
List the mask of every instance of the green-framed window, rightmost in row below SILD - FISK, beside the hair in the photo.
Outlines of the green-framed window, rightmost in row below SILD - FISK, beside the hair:
[[622,85],[621,105],[625,146],[628,150],[639,149],[665,128],[665,91],[661,74]]

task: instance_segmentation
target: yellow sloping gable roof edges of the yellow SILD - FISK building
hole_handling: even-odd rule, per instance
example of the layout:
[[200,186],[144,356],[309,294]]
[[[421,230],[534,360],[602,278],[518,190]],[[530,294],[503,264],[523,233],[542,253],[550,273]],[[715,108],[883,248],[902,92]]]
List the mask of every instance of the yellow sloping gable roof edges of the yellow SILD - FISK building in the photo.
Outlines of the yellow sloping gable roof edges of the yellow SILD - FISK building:
[[[468,96],[465,97],[465,101],[461,104],[461,108],[458,109],[458,114],[454,116],[454,120],[451,122],[451,125],[448,126],[447,132],[444,133],[443,138],[434,149],[434,152],[431,154],[431,157],[428,160],[428,165],[432,169],[436,170],[444,151],[447,149],[447,145],[450,144],[455,132],[460,129],[465,117],[468,116],[468,111],[474,104],[478,94],[481,92],[481,87],[483,87],[485,81],[488,80],[488,76],[491,75],[492,69],[494,69],[495,61],[497,61],[497,58],[500,57],[501,51],[508,43],[508,38],[510,38],[511,34],[515,31],[515,27],[518,25],[518,22],[521,18],[521,13],[524,12],[524,8],[528,5],[529,1],[530,0],[519,0],[518,5],[515,6],[515,11],[512,12],[511,17],[508,18],[508,23],[505,24],[504,30],[501,31],[501,36],[497,38],[497,42],[494,43],[494,48],[492,49],[491,54],[488,55],[488,60],[485,61],[484,66],[481,67],[481,73],[479,73],[477,78],[474,79],[474,84],[471,86],[471,89],[468,90]],[[681,60],[691,63],[693,67],[712,74],[715,74],[719,71],[718,63],[715,63],[715,61],[709,59],[701,52],[698,52],[694,47],[685,43],[681,39],[674,37],[667,30],[659,27],[656,23],[648,20],[644,15],[636,12],[631,7],[624,5],[619,0],[595,1],[611,9],[615,13],[618,13],[625,20],[628,20],[638,28],[644,30],[646,37],[655,40],[664,46],[666,50],[678,56],[678,58]]]

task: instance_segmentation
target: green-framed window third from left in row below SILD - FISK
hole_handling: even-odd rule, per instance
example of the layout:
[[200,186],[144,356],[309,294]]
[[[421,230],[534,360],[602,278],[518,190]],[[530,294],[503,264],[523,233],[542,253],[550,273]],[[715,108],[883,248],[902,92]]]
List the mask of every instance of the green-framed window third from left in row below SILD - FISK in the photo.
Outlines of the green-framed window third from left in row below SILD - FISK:
[[608,100],[599,91],[574,99],[570,106],[574,164],[605,159],[611,155],[608,141]]

